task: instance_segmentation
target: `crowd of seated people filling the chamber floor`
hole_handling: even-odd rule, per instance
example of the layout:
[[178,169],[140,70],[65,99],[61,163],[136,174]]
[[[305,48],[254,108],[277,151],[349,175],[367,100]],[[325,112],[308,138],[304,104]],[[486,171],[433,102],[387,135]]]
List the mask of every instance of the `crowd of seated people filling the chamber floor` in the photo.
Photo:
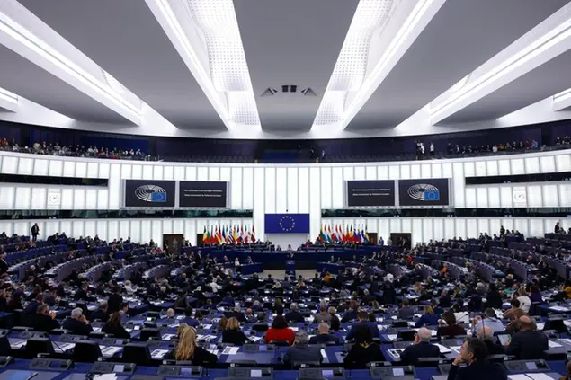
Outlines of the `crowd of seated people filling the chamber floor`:
[[[489,254],[485,244],[489,235],[483,236],[482,242],[470,241],[480,242],[479,252]],[[73,242],[77,241],[87,242],[91,248],[70,251],[69,261],[90,255],[89,250],[96,245],[117,250],[125,244],[122,240],[105,243],[89,237]],[[540,331],[534,317],[539,311],[533,303],[571,298],[571,283],[553,276],[552,268],[544,265],[551,253],[542,253],[544,259],[540,261],[531,260],[531,275],[525,281],[509,278],[513,273],[505,268],[502,276],[486,281],[472,261],[467,261],[459,275],[442,270],[441,264],[426,271],[433,265],[434,252],[451,260],[445,250],[457,250],[453,247],[461,244],[460,240],[451,240],[396,251],[379,246],[378,252],[352,258],[352,265],[339,273],[273,278],[241,276],[234,268],[196,250],[182,250],[179,255],[167,257],[151,242],[140,247],[146,255],[168,259],[164,275],[138,275],[125,280],[105,276],[91,282],[79,275],[88,268],[79,267],[74,274],[58,280],[45,274],[49,261],[38,260],[33,269],[27,270],[25,281],[17,281],[6,271],[0,273],[0,311],[18,314],[18,323],[35,331],[63,328],[91,336],[99,329],[116,338],[138,340],[131,322],[148,309],[138,309],[137,305],[167,303],[156,306],[163,314],[156,323],[164,320],[166,326],[176,326],[175,344],[165,358],[192,360],[195,365],[206,366],[218,360],[215,353],[201,345],[205,336],[212,334],[220,343],[233,346],[255,342],[288,346],[282,357],[285,366],[299,360],[319,362],[324,345],[350,342],[351,347],[344,352],[344,366],[364,368],[370,362],[388,359],[387,351],[381,349],[385,344],[381,339],[398,323],[416,329],[411,344],[400,354],[400,361],[411,365],[418,365],[423,358],[440,358],[436,342],[469,337],[454,359],[451,378],[505,378],[501,368],[486,361],[491,354],[547,358],[548,335]],[[442,247],[442,251],[432,247]],[[473,252],[459,251],[460,257],[467,259]],[[569,256],[565,252],[556,254]],[[520,260],[518,255],[514,251],[513,259]],[[527,260],[526,254],[523,257]],[[111,271],[116,272],[136,260],[137,256],[132,255],[117,262],[108,254],[95,262],[112,262]],[[540,300],[534,297],[536,301],[532,302],[533,295],[539,295]],[[88,304],[95,307],[85,307]],[[504,344],[497,337],[503,333],[511,335]],[[463,365],[468,366],[460,367]]]

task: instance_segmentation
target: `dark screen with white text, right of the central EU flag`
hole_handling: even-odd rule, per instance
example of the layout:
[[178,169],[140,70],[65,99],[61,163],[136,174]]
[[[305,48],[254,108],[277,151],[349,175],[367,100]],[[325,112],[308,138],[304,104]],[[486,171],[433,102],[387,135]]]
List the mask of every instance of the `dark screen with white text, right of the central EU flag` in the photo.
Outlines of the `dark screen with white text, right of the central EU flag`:
[[395,206],[395,181],[347,181],[347,207]]

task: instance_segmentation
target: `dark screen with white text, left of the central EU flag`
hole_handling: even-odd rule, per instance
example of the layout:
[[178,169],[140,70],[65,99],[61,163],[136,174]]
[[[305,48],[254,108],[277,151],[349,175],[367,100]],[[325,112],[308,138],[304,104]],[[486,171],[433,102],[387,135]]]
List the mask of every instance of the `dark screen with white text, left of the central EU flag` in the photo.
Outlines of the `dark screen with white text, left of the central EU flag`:
[[228,182],[180,181],[179,207],[228,208]]

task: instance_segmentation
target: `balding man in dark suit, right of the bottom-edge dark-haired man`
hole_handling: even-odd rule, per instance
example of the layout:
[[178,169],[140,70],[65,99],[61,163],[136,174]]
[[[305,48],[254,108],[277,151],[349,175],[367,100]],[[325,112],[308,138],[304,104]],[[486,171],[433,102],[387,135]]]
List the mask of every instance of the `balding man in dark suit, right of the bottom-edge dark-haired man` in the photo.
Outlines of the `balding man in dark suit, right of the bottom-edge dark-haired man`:
[[518,360],[546,358],[545,351],[549,349],[547,335],[537,331],[537,326],[527,315],[521,316],[518,321],[521,331],[513,335],[505,353]]

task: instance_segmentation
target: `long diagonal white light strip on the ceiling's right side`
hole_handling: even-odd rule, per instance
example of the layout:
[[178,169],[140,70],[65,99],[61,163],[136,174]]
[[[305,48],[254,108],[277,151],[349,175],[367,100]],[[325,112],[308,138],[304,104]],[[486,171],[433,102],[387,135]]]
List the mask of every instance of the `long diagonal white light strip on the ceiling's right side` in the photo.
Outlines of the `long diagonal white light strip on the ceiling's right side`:
[[469,97],[473,96],[487,85],[493,84],[504,75],[513,72],[513,70],[526,64],[531,59],[539,57],[541,54],[569,37],[571,37],[571,19],[561,22],[556,28],[543,34],[540,38],[527,45],[524,49],[513,54],[513,56],[504,59],[502,63],[495,66],[493,69],[478,76],[475,80],[463,86],[459,92],[454,94],[454,96],[447,98],[441,104],[434,107],[431,110],[430,115],[433,124],[446,118],[448,116],[447,112],[450,112],[460,102],[466,101]]

